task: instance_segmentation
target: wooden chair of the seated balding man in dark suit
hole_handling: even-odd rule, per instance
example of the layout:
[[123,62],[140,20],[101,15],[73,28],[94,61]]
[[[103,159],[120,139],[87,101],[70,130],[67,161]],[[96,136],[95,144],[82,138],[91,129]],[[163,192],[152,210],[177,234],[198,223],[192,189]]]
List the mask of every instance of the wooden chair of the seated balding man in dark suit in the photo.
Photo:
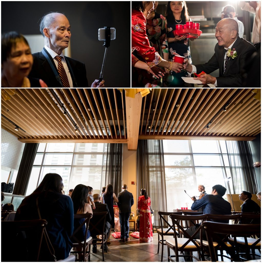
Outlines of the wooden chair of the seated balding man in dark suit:
[[[89,231],[91,233],[91,236],[97,236],[101,235],[102,239],[94,238],[93,237],[93,242],[92,245],[97,245],[101,244],[102,245],[102,257],[103,261],[105,261],[105,256],[104,256],[104,244],[106,244],[106,236],[105,236],[105,221],[106,221],[106,215],[107,212],[93,212],[93,217],[89,222]],[[94,243],[94,241],[101,241],[100,243]],[[105,245],[105,250],[107,252],[107,247]]]

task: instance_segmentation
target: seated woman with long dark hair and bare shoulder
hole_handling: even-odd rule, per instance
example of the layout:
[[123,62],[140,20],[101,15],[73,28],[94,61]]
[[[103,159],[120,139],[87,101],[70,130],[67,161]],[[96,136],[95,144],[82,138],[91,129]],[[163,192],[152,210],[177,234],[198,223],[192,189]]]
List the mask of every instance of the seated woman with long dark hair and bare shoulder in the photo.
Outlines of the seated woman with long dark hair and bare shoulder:
[[[74,206],[74,214],[86,214],[91,213],[93,215],[93,211],[91,208],[90,199],[88,198],[89,188],[86,185],[78,184],[71,195],[71,199],[73,201]],[[74,229],[77,229],[83,222],[85,218],[74,220]],[[85,224],[82,227],[82,231],[78,231],[76,237],[84,241],[85,238]],[[90,237],[90,231],[88,230],[87,237]]]

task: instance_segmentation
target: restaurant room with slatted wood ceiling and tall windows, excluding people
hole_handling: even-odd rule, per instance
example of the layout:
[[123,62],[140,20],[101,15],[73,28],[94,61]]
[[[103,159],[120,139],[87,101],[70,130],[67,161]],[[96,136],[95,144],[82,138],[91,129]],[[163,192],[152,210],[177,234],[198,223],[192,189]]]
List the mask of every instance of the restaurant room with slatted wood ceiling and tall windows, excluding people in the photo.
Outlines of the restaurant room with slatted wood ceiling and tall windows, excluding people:
[[[261,207],[260,161],[260,89],[1,89],[1,203],[13,203],[16,211],[47,173],[61,175],[65,194],[77,184],[92,186],[93,194],[112,184],[117,196],[126,184],[134,198],[130,232],[137,232],[140,190],[151,198],[153,242],[130,237],[120,244],[111,235],[107,251],[93,253],[88,244],[86,261],[190,261],[185,251],[193,261],[260,261],[261,227],[258,233],[251,221],[244,233],[239,224],[243,190]],[[199,195],[198,185],[211,194],[217,184],[227,189],[223,198],[234,216],[224,225],[241,227],[238,235],[243,231],[253,243],[240,247],[233,238],[216,247],[192,239],[191,249],[179,248],[179,224],[185,229],[188,222],[209,221],[191,210],[190,197]],[[260,213],[251,217],[260,221]]]

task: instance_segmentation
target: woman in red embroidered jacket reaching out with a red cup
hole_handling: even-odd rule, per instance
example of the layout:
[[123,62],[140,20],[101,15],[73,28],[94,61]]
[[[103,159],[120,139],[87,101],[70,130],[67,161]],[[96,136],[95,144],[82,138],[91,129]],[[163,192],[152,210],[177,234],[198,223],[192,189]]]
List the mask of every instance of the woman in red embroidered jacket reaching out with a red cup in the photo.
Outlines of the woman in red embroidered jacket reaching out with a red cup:
[[[162,59],[160,54],[151,47],[146,34],[146,17],[154,10],[155,1],[132,1],[132,24],[131,24],[131,39],[133,55],[147,63],[148,73],[150,69],[156,65],[179,72],[183,66],[180,63],[166,61]],[[138,61],[138,60],[137,60]],[[132,59],[132,63],[135,60]],[[138,83],[139,85],[139,83]],[[141,86],[141,84],[140,84]]]

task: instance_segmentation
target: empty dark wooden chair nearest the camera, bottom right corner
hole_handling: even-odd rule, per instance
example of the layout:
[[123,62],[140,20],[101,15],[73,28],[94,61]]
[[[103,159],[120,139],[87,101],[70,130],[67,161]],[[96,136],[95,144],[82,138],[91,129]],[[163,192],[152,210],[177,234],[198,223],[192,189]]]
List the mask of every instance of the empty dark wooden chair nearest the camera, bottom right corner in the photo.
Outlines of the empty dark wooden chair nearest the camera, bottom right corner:
[[[231,261],[240,262],[250,260],[250,249],[261,247],[261,237],[251,240],[250,235],[259,236],[261,234],[260,224],[225,224],[206,221],[202,223],[203,230],[209,245],[209,253],[212,262],[216,262],[214,241],[230,255]],[[242,242],[239,242],[242,240]],[[228,243],[231,246],[228,246]],[[246,258],[240,256],[239,251],[245,250]],[[255,255],[253,255],[255,259]]]

